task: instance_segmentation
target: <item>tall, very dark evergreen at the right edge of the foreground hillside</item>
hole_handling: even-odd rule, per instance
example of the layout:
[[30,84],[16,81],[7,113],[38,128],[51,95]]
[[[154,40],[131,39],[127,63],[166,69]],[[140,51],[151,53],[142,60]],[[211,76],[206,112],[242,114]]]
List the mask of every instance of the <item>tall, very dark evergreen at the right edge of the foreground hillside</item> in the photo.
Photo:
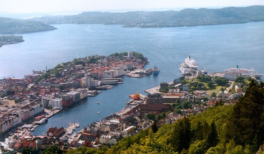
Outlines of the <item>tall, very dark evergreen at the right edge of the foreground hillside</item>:
[[253,145],[258,150],[264,141],[264,84],[252,79],[246,94],[234,105],[231,122],[237,145]]

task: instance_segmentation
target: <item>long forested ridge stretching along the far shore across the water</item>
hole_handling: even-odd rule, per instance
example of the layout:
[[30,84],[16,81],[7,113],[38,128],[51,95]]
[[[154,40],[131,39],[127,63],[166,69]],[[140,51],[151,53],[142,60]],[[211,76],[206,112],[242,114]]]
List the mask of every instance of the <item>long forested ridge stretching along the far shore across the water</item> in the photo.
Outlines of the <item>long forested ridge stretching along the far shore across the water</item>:
[[33,18],[47,24],[106,24],[123,27],[180,27],[264,21],[264,6],[181,11],[83,12],[78,15]]

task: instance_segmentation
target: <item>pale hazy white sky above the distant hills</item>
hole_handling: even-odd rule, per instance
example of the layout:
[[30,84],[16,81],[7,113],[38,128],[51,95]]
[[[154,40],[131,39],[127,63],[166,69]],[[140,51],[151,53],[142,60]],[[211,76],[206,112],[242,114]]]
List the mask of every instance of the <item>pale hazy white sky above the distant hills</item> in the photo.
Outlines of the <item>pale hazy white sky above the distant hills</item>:
[[0,0],[0,12],[143,10],[251,5],[264,5],[264,0]]

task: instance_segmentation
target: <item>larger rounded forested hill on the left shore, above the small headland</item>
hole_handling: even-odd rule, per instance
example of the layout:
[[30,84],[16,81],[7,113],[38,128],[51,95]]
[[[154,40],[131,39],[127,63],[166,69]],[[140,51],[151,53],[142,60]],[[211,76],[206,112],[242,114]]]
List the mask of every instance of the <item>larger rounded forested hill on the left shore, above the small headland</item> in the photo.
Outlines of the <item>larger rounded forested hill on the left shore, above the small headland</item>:
[[22,34],[55,29],[57,28],[38,21],[0,17],[0,34]]

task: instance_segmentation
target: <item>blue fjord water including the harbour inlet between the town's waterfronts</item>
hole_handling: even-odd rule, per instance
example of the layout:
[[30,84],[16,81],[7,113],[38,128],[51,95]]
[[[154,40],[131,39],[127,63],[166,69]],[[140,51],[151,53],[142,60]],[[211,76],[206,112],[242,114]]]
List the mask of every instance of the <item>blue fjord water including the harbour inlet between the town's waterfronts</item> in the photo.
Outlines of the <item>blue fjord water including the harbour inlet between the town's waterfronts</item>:
[[[207,72],[224,69],[254,69],[264,74],[264,22],[172,28],[122,28],[120,25],[53,25],[57,30],[21,34],[24,42],[0,48],[0,79],[23,77],[32,70],[54,68],[74,58],[94,54],[136,51],[148,58],[158,75],[142,78],[124,76],[123,84],[102,91],[49,118],[32,133],[42,135],[49,127],[80,123],[79,129],[121,110],[128,95],[171,82],[180,77],[179,64],[188,55]],[[262,78],[263,80],[263,78]],[[100,102],[100,104],[96,104]],[[97,112],[100,111],[100,114]]]

